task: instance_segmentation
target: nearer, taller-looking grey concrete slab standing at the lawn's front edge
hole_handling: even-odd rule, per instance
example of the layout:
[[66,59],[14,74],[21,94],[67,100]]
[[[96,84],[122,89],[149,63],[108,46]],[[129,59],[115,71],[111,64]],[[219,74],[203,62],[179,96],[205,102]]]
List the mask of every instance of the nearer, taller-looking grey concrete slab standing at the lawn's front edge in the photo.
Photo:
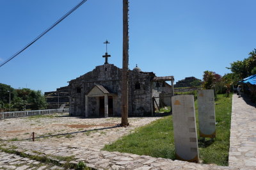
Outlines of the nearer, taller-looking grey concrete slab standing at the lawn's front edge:
[[198,163],[195,103],[193,95],[172,97],[175,155]]

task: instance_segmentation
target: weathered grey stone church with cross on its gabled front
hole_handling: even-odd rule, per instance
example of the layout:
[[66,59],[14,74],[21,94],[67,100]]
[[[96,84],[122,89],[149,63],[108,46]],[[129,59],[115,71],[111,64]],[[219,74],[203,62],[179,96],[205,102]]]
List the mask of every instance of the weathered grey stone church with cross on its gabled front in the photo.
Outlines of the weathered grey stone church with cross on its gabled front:
[[[96,66],[69,81],[70,115],[84,117],[121,116],[122,69],[108,63]],[[136,65],[129,70],[129,116],[152,116],[162,99],[170,105],[173,96],[173,76],[156,77],[153,72],[142,72]],[[170,86],[165,81],[171,81]],[[167,98],[166,98],[167,97]],[[167,104],[168,103],[168,104]]]

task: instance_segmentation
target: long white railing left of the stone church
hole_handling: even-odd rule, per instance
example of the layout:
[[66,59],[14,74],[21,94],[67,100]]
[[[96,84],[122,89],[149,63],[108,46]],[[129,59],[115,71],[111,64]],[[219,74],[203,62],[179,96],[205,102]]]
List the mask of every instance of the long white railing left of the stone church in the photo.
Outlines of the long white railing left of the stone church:
[[0,120],[6,118],[19,118],[25,116],[33,116],[40,114],[52,114],[52,113],[61,113],[69,112],[69,109],[48,109],[48,110],[37,110],[37,111],[16,111],[16,112],[0,112]]

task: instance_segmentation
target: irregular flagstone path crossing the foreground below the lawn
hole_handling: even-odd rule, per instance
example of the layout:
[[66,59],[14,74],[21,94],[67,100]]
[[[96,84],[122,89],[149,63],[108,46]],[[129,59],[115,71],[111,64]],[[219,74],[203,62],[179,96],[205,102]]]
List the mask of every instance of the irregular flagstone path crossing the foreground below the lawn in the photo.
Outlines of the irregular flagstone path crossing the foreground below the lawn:
[[[96,169],[142,169],[142,170],[159,170],[159,169],[235,169],[232,167],[221,167],[211,164],[195,164],[180,160],[171,160],[166,158],[154,158],[145,155],[135,155],[131,153],[120,153],[117,151],[99,151],[86,147],[49,146],[51,144],[36,142],[28,143],[26,141],[11,143],[17,146],[17,151],[22,151],[28,155],[47,155],[47,158],[57,160],[57,157],[74,156],[71,164],[77,164],[79,161],[86,162],[86,166]],[[4,146],[8,148],[8,146]],[[65,164],[60,160],[60,164]]]

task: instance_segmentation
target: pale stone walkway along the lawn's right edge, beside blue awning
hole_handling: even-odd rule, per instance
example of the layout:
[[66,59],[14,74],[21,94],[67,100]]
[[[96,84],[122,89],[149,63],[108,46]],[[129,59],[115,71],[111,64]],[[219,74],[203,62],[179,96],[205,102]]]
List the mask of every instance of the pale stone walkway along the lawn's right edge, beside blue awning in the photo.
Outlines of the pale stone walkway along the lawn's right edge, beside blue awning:
[[233,95],[229,166],[256,169],[256,105],[245,95]]

